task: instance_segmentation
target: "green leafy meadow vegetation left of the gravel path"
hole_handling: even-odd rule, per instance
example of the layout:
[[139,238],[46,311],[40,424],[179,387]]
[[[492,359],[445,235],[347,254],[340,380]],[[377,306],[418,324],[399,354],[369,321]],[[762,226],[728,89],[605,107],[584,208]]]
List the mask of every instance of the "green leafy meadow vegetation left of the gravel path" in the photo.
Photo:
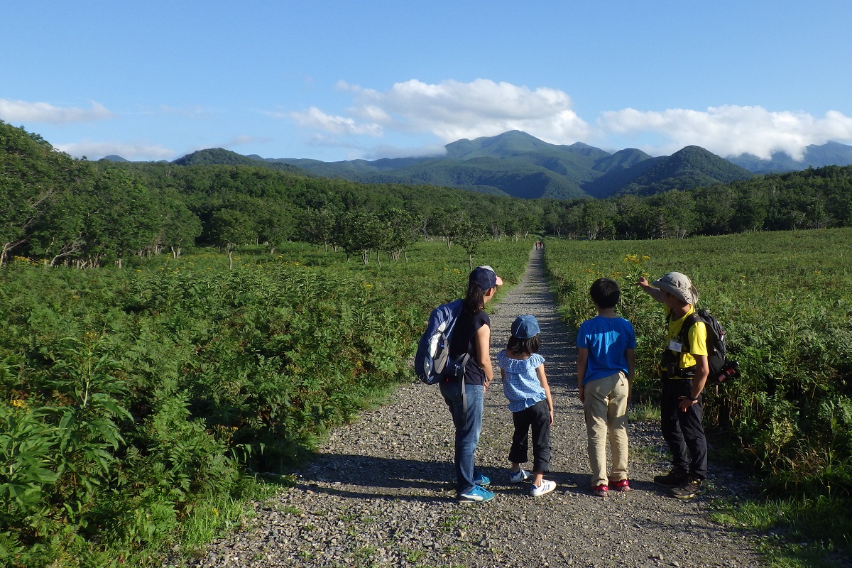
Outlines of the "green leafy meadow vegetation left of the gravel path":
[[[519,281],[532,241],[476,258]],[[382,267],[293,244],[0,271],[0,564],[157,565],[239,519],[390,387],[469,255]]]

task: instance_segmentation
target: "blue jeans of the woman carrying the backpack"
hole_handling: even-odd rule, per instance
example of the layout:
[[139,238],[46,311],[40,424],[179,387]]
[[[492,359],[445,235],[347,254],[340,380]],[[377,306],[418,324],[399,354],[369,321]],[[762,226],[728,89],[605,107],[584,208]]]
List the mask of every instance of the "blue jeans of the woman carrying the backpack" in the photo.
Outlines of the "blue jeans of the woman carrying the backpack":
[[[485,388],[482,385],[464,385],[464,397],[458,382],[440,382],[440,393],[452,414],[456,426],[456,494],[461,495],[474,488],[474,452],[479,444],[482,429],[482,403]],[[465,400],[467,399],[467,409]]]

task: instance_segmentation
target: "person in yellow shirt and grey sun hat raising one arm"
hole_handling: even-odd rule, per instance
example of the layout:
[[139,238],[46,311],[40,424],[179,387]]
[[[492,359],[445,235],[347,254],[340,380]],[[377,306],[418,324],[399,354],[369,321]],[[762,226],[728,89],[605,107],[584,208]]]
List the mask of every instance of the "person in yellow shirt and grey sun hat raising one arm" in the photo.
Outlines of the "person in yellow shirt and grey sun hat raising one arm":
[[667,322],[668,347],[661,364],[663,385],[659,408],[660,428],[671,450],[673,467],[671,472],[654,477],[653,482],[670,487],[672,496],[688,499],[705,491],[707,476],[701,392],[710,366],[704,322],[695,321],[685,341],[680,339],[684,322],[695,313],[698,291],[682,273],[664,274],[652,284],[642,277],[637,284],[665,306]]

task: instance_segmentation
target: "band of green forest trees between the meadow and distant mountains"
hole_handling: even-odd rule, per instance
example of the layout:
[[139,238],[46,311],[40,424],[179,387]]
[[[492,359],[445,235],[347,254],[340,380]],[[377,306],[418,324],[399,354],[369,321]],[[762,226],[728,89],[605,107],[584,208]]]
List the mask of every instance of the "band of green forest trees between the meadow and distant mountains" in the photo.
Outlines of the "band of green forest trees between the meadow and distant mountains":
[[[250,164],[76,160],[0,122],[0,262],[120,265],[193,246],[286,241],[404,250],[541,233],[568,238],[685,238],[852,225],[852,166],[606,199],[520,199],[440,186],[363,184]],[[354,231],[357,227],[359,230]]]

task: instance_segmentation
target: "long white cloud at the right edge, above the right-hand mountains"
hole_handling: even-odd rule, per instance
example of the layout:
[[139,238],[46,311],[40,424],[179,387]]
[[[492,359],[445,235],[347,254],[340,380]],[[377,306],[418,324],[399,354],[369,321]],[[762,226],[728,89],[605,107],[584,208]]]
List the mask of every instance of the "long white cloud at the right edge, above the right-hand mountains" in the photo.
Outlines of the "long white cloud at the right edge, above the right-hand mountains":
[[852,118],[836,111],[815,118],[806,112],[769,112],[761,106],[711,106],[706,111],[669,109],[604,112],[599,126],[611,134],[662,135],[668,142],[648,153],[671,154],[683,146],[701,146],[720,156],[751,153],[772,158],[786,152],[801,159],[805,146],[826,141],[852,141]]

